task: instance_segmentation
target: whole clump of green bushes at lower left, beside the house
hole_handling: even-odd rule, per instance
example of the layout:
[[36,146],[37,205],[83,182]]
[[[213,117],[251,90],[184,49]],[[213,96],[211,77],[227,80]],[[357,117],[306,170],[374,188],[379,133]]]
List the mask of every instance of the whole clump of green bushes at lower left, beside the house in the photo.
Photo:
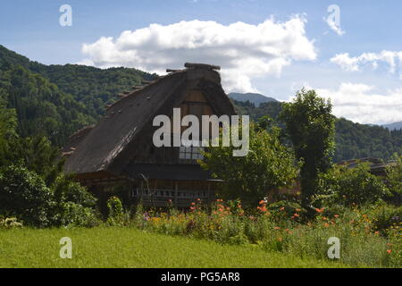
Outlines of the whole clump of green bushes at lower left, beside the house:
[[98,224],[96,199],[79,183],[60,176],[51,188],[35,172],[8,166],[0,172],[0,214],[35,227]]

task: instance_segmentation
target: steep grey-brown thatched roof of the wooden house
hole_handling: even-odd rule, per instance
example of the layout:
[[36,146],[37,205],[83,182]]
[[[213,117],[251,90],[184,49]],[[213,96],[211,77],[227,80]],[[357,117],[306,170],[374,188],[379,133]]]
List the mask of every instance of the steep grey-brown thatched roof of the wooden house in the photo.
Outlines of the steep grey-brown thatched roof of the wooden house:
[[73,137],[73,142],[67,144],[74,150],[67,156],[65,172],[121,173],[132,161],[133,150],[141,148],[136,146],[136,140],[143,130],[152,127],[155,115],[170,116],[173,107],[180,105],[188,90],[200,89],[215,114],[235,114],[215,68],[190,64],[188,69],[169,73],[122,97],[107,109],[105,117],[94,128],[83,132],[84,137]]

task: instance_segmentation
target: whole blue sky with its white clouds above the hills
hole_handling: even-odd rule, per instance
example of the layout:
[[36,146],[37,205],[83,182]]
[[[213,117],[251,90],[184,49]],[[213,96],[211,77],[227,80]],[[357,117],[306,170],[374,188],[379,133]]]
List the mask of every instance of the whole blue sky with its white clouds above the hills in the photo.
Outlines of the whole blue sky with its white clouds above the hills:
[[[71,27],[59,24],[62,14],[59,7],[62,4],[71,5]],[[326,22],[331,14],[327,8],[331,4],[339,6],[339,29],[345,31],[343,35],[337,34]],[[280,100],[289,100],[299,88],[315,88],[320,95],[331,97],[334,112],[339,116],[356,122],[387,123],[402,121],[401,11],[402,2],[398,0],[370,4],[357,0],[4,0],[0,4],[0,44],[40,63],[88,63],[100,67],[126,65],[149,71],[161,70],[163,63],[173,65],[166,67],[177,68],[180,66],[176,65],[188,60],[208,63],[222,59],[222,81],[227,91],[258,91]],[[267,32],[257,29],[259,24],[269,19],[273,24],[269,26],[272,29]],[[241,22],[248,25],[245,29],[250,33],[255,32],[255,38],[270,38],[272,31],[292,19],[303,19],[297,22],[297,27],[304,31],[296,33],[289,27],[283,29],[283,38],[276,43],[267,43],[265,40],[255,42],[253,34],[247,38],[248,42],[253,42],[250,45],[256,46],[253,51],[247,48],[247,43],[239,46],[237,28],[230,26]],[[195,20],[199,22],[193,22]],[[180,21],[184,23],[179,28],[171,26]],[[216,24],[208,25],[206,21]],[[121,37],[124,30],[134,32],[147,29],[153,23],[159,24],[158,28],[149,29],[148,32],[155,35],[153,31],[156,31],[158,36],[144,40],[142,46],[132,43],[141,41],[138,33]],[[205,31],[205,27],[209,29]],[[163,35],[166,40],[184,37],[184,41],[187,41],[191,35],[184,31],[180,35],[180,29],[190,28],[203,30],[197,36],[203,40],[214,38],[211,36],[211,33],[215,33],[211,31],[214,28],[221,31],[216,32],[219,37],[225,38],[228,33],[232,38],[228,36],[227,42],[216,44],[216,50],[219,49],[221,53],[216,52],[216,55],[212,55],[214,48],[209,44],[199,48],[180,46],[180,49],[176,49],[178,53],[172,52],[174,43],[166,46],[162,39],[164,44],[161,44]],[[102,37],[113,39],[100,41]],[[197,40],[189,40],[188,45],[197,44]],[[84,44],[88,44],[86,52],[83,52]],[[261,49],[258,49],[259,45]],[[278,45],[293,46],[278,49]],[[271,48],[275,49],[274,57],[262,54],[258,58],[259,53],[266,49],[271,53]],[[298,48],[300,51],[297,51]],[[126,54],[127,49],[132,49],[132,54]],[[160,64],[147,63],[147,59],[141,58],[151,55],[149,50],[144,49],[155,53],[164,49],[165,53],[157,54],[160,58],[156,57]],[[222,56],[230,52],[247,54],[248,60],[236,61],[236,58]],[[134,54],[136,56],[126,64],[125,56]],[[282,62],[270,62],[272,60]],[[258,72],[245,71],[244,77],[237,73],[243,65],[254,63],[259,66],[255,69]],[[393,68],[391,63],[394,63]],[[244,85],[241,84],[242,80]]]

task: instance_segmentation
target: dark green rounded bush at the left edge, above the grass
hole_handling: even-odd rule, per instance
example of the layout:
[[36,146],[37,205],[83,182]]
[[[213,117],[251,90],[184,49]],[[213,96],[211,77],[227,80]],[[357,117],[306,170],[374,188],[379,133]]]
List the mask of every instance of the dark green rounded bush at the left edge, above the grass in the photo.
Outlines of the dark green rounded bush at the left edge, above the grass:
[[46,227],[54,223],[53,192],[35,172],[21,166],[0,172],[0,214],[16,216],[27,225]]

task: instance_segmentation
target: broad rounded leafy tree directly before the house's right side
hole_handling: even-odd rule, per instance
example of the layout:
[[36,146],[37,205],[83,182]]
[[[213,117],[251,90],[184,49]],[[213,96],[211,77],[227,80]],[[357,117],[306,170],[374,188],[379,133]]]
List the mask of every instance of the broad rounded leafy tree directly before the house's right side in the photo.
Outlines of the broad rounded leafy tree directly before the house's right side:
[[270,132],[250,125],[247,156],[233,156],[233,147],[208,147],[199,163],[215,178],[226,181],[223,196],[240,198],[255,206],[270,191],[281,188],[297,176],[295,158],[279,140],[279,129]]

